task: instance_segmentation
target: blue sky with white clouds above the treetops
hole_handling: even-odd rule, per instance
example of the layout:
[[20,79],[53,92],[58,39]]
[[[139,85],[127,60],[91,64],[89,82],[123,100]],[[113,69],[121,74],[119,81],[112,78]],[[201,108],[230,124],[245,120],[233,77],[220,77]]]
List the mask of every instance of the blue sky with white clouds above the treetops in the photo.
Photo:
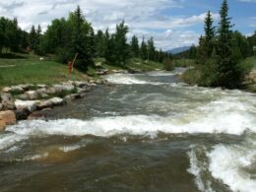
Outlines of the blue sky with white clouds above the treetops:
[[[40,25],[45,32],[53,19],[67,17],[80,5],[95,30],[114,32],[125,20],[130,32],[140,39],[154,37],[163,50],[198,43],[204,18],[210,10],[218,26],[222,0],[0,0],[0,16],[18,18],[23,30]],[[245,35],[256,31],[256,0],[228,0],[229,16]]]

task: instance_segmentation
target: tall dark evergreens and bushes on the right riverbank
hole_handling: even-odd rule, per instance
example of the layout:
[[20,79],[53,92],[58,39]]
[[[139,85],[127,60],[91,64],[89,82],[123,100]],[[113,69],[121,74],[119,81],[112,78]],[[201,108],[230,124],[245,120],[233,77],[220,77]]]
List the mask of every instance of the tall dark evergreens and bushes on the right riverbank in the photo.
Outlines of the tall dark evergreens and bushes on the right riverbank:
[[196,70],[200,74],[196,84],[235,89],[241,87],[250,71],[251,66],[245,66],[241,60],[254,54],[256,32],[246,37],[241,32],[232,31],[226,0],[223,1],[220,16],[219,26],[215,27],[211,11],[207,13],[205,33],[199,38],[199,46],[193,45],[186,54],[196,61]]

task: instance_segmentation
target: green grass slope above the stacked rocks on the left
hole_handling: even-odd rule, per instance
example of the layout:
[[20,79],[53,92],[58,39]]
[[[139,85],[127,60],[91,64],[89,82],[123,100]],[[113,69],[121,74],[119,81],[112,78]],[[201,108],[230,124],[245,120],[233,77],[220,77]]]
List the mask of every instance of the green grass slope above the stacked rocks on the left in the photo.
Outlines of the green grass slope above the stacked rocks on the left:
[[0,58],[0,87],[19,84],[54,84],[68,80],[83,80],[84,74],[74,70],[69,76],[67,66],[36,55],[23,54],[22,59]]

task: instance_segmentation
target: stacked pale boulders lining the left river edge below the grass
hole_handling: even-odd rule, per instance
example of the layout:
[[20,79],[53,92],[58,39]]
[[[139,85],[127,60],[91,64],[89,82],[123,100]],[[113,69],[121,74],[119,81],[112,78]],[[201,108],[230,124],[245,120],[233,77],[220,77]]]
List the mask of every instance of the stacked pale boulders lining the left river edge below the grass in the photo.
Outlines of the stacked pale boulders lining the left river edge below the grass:
[[42,119],[54,106],[83,98],[105,80],[68,81],[61,84],[19,85],[5,87],[0,92],[0,131],[19,120]]

